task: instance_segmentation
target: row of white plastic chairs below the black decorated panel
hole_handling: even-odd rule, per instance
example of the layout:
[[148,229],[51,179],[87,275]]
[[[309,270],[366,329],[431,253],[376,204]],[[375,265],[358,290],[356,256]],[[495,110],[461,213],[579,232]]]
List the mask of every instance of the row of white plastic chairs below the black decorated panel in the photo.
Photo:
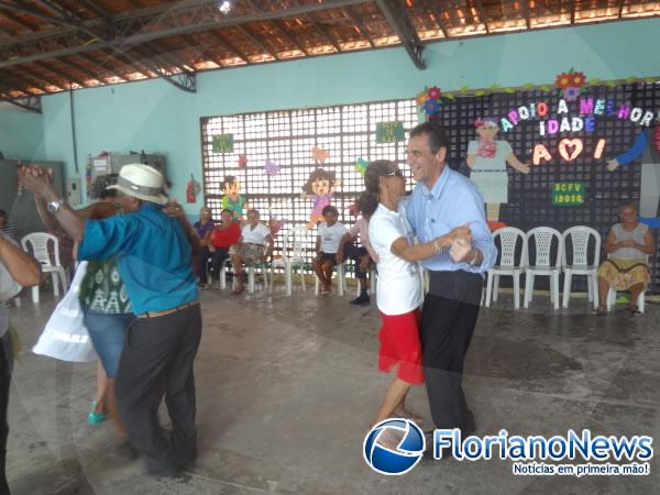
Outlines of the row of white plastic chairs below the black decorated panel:
[[[491,306],[491,299],[497,300],[499,277],[512,276],[514,279],[514,308],[520,307],[520,276],[525,274],[524,306],[529,307],[534,295],[534,283],[537,276],[550,278],[550,300],[554,309],[559,309],[559,275],[563,272],[563,299],[562,306],[569,307],[571,286],[574,275],[586,276],[588,301],[594,308],[598,306],[598,260],[601,255],[601,234],[591,227],[575,226],[559,232],[551,227],[537,227],[524,232],[515,227],[505,227],[493,232],[495,240],[501,242],[501,262],[488,271],[486,283],[485,306]],[[593,250],[590,251],[590,240]],[[521,240],[522,249],[519,262],[516,262],[516,246]],[[558,241],[558,249],[552,256],[553,241]],[[535,264],[530,265],[529,250],[534,245],[536,251]],[[568,246],[572,246],[572,262],[568,263]],[[588,263],[588,260],[593,263]],[[616,300],[616,290],[610,288],[606,305],[608,309]],[[645,294],[641,293],[637,302],[640,311],[645,308]]]

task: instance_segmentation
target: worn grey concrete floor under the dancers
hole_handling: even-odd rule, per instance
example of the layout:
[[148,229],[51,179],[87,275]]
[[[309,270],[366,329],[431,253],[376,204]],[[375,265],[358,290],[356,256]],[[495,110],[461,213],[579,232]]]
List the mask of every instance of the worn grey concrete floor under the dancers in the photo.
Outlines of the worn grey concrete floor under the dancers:
[[[53,309],[42,295],[11,310],[32,345]],[[282,288],[201,295],[196,362],[199,459],[183,479],[154,479],[117,452],[108,424],[87,424],[94,364],[25,353],[9,409],[8,476],[14,494],[242,493],[657,493],[659,475],[514,476],[510,461],[422,461],[405,476],[362,459],[367,425],[388,377],[376,371],[375,306]],[[660,307],[596,318],[584,299],[553,311],[539,296],[514,311],[510,296],[483,308],[465,373],[479,433],[659,437]],[[426,391],[410,394],[429,422]]]

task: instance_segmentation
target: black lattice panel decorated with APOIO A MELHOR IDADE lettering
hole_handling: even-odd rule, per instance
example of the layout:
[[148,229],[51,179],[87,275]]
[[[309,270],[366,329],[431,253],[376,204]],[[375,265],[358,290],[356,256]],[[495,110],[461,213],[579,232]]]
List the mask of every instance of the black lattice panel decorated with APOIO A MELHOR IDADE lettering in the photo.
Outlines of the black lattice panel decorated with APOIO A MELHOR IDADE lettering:
[[[616,220],[617,202],[639,198],[642,217],[658,217],[660,174],[647,174],[639,162],[653,160],[660,89],[585,81],[583,73],[562,73],[554,89],[453,98],[427,114],[447,127],[448,161],[477,184],[490,220],[606,229]],[[581,184],[584,194],[566,201],[565,193],[553,189],[557,184]],[[560,201],[572,208],[548,210]]]

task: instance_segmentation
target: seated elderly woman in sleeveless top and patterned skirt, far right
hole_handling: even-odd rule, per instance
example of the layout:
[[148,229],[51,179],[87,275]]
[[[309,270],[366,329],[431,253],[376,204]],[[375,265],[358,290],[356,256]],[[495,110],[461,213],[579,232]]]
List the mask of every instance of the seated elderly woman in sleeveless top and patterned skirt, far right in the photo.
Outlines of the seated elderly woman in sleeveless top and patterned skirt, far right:
[[616,290],[630,290],[628,310],[640,315],[637,307],[639,295],[651,279],[647,255],[656,252],[653,237],[648,226],[640,223],[637,208],[625,202],[618,208],[619,223],[607,232],[605,252],[609,257],[598,267],[598,308],[596,315],[607,312],[609,287]]

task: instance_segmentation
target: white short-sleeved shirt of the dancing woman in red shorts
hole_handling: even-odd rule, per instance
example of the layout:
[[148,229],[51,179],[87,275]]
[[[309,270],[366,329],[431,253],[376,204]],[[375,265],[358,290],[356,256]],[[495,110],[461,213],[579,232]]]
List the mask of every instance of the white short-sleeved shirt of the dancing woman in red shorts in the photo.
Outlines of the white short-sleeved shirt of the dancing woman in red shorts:
[[405,217],[378,205],[369,221],[369,239],[378,254],[378,287],[376,302],[385,315],[404,315],[421,306],[421,274],[417,263],[410,263],[392,252],[392,244],[404,238],[414,244],[414,234]]

